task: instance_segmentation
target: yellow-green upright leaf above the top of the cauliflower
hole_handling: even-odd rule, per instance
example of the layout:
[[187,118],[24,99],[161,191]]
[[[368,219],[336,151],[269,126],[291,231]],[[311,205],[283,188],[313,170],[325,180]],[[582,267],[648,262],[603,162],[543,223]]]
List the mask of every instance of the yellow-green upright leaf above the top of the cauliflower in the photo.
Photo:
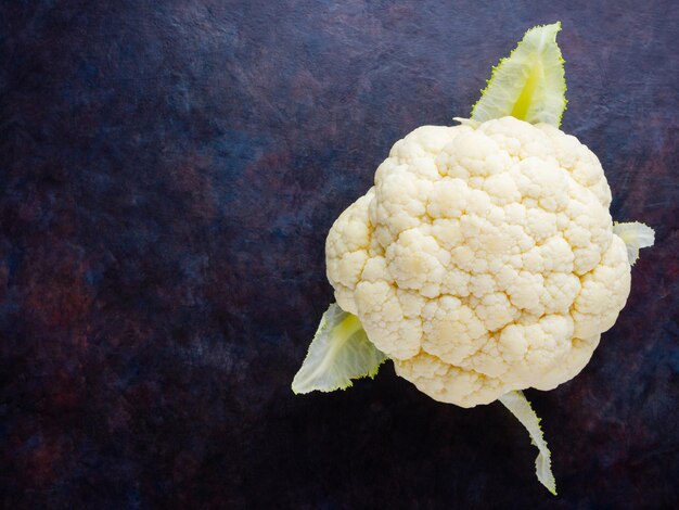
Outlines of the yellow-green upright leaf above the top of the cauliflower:
[[561,22],[526,31],[509,58],[492,68],[492,76],[472,110],[472,119],[514,116],[531,124],[559,127],[566,109],[564,60],[556,44]]

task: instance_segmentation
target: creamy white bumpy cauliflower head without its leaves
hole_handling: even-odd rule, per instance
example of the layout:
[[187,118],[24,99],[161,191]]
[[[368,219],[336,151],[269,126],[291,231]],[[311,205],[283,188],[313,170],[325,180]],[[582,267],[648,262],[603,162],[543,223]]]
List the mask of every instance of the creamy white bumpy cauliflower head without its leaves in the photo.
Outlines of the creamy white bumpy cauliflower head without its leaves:
[[610,204],[597,156],[552,125],[423,126],[334,222],[328,278],[434,399],[551,390],[582,370],[629,294]]

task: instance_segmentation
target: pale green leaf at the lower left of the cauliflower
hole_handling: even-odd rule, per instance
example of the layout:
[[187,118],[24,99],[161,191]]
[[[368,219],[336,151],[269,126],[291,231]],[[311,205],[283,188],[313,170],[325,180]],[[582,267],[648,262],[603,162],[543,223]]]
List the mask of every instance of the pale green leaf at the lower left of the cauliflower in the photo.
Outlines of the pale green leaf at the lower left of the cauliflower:
[[333,392],[351,379],[374,377],[386,355],[368,340],[358,317],[335,303],[321,317],[309,353],[293,380],[293,392]]

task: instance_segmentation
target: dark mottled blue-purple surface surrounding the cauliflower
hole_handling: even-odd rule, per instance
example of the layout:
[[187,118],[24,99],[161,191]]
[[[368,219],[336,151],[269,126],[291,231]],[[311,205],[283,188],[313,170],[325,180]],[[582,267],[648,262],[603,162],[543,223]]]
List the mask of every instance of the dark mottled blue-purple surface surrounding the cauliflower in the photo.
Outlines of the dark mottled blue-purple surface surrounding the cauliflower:
[[[592,361],[528,391],[560,495],[499,404],[383,367],[294,396],[323,244],[390,145],[469,115],[563,22],[563,129],[656,230]],[[2,1],[4,508],[679,502],[679,3]]]

